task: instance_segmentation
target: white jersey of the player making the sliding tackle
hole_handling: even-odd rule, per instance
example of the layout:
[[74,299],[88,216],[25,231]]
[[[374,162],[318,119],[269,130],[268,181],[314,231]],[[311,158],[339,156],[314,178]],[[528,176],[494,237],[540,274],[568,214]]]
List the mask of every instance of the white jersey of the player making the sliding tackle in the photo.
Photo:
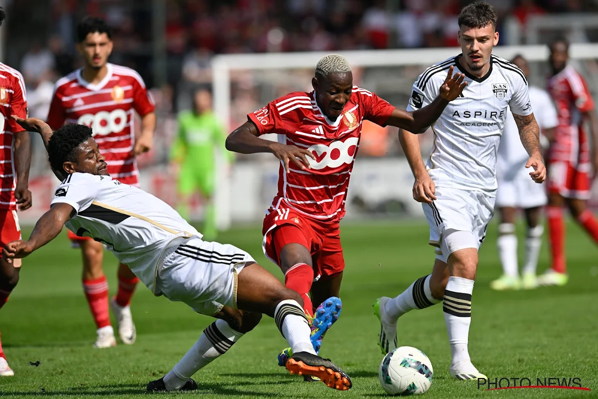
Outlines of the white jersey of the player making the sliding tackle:
[[176,237],[202,237],[166,202],[110,176],[67,176],[52,205],[61,202],[77,212],[66,227],[105,244],[153,293],[158,260],[169,243]]

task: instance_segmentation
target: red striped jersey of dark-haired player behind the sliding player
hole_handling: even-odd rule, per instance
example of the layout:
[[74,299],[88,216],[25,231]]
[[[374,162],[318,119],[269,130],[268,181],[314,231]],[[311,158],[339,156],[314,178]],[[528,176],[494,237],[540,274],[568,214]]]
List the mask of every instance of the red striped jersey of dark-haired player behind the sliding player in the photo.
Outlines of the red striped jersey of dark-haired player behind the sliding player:
[[65,122],[90,126],[110,176],[136,185],[139,172],[132,154],[133,111],[149,114],[154,102],[137,72],[111,63],[106,66],[108,74],[98,84],[83,80],[82,69],[60,78],[54,86],[47,123],[53,130]]

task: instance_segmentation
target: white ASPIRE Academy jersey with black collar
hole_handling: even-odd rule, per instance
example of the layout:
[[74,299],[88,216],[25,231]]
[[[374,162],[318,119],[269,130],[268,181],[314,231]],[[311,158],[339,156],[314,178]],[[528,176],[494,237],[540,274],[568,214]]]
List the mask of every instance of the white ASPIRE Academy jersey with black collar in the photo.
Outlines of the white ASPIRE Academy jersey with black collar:
[[527,79],[521,69],[500,57],[490,57],[490,70],[474,77],[451,57],[426,69],[413,84],[407,106],[414,111],[431,103],[446,79],[463,72],[468,85],[432,124],[434,143],[426,167],[437,187],[484,191],[496,195],[496,153],[507,108],[517,115],[532,114]]

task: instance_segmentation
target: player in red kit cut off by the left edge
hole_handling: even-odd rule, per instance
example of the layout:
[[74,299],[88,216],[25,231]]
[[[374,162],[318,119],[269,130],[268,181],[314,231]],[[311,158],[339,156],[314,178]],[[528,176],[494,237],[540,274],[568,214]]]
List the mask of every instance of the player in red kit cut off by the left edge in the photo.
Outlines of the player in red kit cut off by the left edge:
[[[6,14],[0,7],[0,26]],[[0,245],[21,239],[19,211],[31,207],[29,191],[29,166],[31,163],[31,139],[10,115],[27,117],[25,81],[19,71],[0,63]],[[0,308],[19,282],[21,263],[0,260]],[[0,342],[0,377],[13,376]]]

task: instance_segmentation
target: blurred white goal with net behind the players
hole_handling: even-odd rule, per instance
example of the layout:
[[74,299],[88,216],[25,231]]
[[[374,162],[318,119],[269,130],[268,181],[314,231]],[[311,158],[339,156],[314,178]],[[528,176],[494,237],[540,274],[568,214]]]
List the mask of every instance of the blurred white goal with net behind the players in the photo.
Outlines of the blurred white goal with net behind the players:
[[[353,69],[353,83],[375,92],[404,108],[418,75],[434,63],[460,53],[460,48],[417,50],[339,51]],[[279,96],[312,90],[315,65],[327,53],[230,54],[213,59],[215,111],[229,130],[245,123],[246,115]],[[545,87],[548,47],[518,45],[495,47],[493,54],[505,59],[523,55],[530,63],[529,82]],[[598,44],[572,44],[571,62],[585,77],[590,91],[598,93]],[[417,217],[421,206],[411,197],[413,178],[396,138],[396,128],[382,128],[364,121],[359,155],[353,170],[347,219]],[[276,136],[269,139],[276,139]],[[431,132],[420,135],[426,159],[432,145]],[[221,182],[216,193],[219,224],[258,221],[276,192],[277,162],[271,154],[238,156],[231,173],[219,168]]]

